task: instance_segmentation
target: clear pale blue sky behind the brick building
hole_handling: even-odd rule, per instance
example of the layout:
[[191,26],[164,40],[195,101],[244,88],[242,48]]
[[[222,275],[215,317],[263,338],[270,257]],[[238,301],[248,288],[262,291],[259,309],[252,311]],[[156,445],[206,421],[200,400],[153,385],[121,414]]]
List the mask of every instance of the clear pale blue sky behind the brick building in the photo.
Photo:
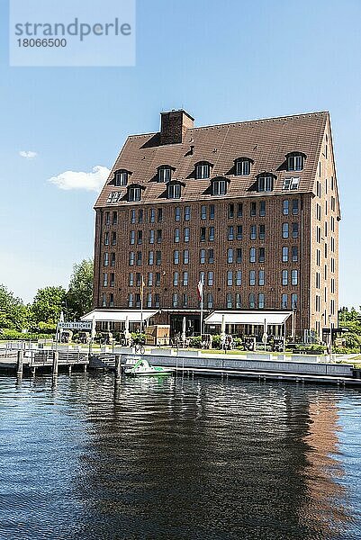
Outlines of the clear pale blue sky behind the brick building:
[[50,178],[111,168],[127,134],[158,130],[160,111],[184,107],[200,126],[329,110],[340,304],[361,304],[359,0],[138,0],[136,67],[8,67],[7,19],[0,0],[0,283],[26,302],[68,284],[93,254],[96,193]]

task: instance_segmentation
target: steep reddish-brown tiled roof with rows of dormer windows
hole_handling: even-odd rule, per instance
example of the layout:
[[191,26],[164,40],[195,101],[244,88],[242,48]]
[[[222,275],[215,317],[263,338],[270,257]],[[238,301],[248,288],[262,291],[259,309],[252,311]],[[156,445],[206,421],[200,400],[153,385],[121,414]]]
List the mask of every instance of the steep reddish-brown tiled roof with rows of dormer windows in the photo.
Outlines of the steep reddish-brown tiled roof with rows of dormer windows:
[[[156,181],[157,169],[161,165],[174,167],[172,179],[185,183],[180,201],[210,200],[213,198],[208,189],[210,179],[194,179],[194,166],[200,161],[213,164],[211,178],[226,176],[230,179],[228,193],[224,195],[226,198],[284,193],[283,179],[289,176],[300,178],[299,188],[293,193],[313,193],[321,142],[328,121],[328,112],[311,112],[193,128],[186,130],[182,143],[167,145],[160,145],[159,133],[132,135],[126,140],[95,208],[106,206],[111,192],[121,193],[116,205],[127,203],[126,187],[113,185],[113,175],[118,169],[131,171],[131,184],[145,186],[141,202],[162,202],[166,186]],[[193,153],[191,146],[194,147]],[[306,156],[301,172],[290,173],[285,169],[285,156],[293,151]],[[234,160],[238,157],[253,160],[250,175],[234,175]],[[271,193],[257,193],[254,188],[257,175],[263,172],[276,176]]]

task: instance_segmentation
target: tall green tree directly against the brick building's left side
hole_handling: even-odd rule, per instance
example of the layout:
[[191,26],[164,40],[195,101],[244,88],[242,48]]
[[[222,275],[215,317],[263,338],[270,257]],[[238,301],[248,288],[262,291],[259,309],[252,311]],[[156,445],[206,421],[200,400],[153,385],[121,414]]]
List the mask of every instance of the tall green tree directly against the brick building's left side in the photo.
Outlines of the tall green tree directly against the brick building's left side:
[[84,259],[73,266],[67,293],[67,316],[78,320],[92,309],[94,265],[92,259]]

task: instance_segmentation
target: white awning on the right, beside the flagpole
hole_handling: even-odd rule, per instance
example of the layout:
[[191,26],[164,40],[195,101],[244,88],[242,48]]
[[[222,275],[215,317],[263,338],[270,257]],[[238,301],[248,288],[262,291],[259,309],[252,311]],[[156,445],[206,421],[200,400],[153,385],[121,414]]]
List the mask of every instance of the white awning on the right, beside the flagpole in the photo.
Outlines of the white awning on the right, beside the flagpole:
[[204,324],[254,324],[259,326],[284,324],[292,315],[292,311],[213,311],[204,319]]

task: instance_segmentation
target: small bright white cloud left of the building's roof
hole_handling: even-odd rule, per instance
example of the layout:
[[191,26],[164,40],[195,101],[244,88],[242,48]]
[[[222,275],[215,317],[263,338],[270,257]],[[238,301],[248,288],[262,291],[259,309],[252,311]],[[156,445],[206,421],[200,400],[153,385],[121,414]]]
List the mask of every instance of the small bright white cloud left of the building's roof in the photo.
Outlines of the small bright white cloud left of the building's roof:
[[48,180],[50,184],[57,185],[59,189],[85,189],[86,191],[100,192],[105,180],[110,174],[106,166],[94,166],[91,173],[66,171]]

